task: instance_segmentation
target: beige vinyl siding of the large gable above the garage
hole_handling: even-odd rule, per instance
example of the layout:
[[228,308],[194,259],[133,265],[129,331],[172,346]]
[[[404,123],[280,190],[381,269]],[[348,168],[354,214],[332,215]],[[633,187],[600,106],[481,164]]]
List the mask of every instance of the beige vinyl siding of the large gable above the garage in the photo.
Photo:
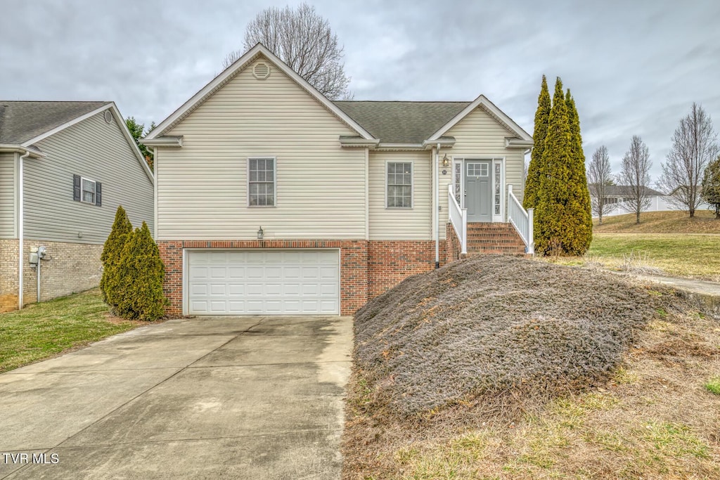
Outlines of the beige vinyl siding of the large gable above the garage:
[[[271,65],[254,63],[166,135],[158,148],[158,239],[364,239],[365,150],[346,124]],[[248,157],[276,158],[276,207],[248,207]]]

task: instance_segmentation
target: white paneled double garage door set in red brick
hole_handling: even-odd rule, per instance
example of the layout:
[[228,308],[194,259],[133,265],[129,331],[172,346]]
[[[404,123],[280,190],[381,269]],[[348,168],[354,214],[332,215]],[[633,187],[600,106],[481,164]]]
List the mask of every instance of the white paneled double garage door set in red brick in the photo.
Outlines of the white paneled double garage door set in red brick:
[[338,250],[189,250],[189,314],[339,314]]

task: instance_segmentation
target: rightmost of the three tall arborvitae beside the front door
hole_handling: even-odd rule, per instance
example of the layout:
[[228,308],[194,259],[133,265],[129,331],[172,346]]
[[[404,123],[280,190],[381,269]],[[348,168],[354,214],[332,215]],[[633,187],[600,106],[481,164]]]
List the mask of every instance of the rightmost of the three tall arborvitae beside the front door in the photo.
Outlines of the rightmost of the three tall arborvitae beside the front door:
[[567,118],[570,122],[570,175],[567,183],[567,204],[564,208],[564,225],[567,235],[563,242],[564,253],[584,255],[593,240],[593,209],[588,189],[588,176],[585,173],[585,153],[582,151],[580,135],[580,117],[575,107],[575,99],[567,89],[565,95]]

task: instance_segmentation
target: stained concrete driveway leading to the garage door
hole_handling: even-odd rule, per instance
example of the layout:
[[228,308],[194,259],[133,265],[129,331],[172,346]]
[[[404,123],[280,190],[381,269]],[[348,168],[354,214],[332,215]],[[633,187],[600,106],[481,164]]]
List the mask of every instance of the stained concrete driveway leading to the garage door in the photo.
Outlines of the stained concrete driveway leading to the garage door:
[[207,317],[3,373],[0,479],[337,479],[351,348],[349,317]]

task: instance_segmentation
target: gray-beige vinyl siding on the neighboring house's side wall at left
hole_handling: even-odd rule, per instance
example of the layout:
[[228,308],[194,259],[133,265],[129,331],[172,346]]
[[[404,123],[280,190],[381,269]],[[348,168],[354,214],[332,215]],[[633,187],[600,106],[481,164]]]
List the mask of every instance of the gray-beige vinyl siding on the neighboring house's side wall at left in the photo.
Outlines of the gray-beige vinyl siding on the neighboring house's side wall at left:
[[[114,120],[101,112],[37,145],[47,156],[24,162],[25,237],[104,243],[120,204],[153,231],[153,184]],[[73,201],[73,174],[102,183],[101,207]]]

